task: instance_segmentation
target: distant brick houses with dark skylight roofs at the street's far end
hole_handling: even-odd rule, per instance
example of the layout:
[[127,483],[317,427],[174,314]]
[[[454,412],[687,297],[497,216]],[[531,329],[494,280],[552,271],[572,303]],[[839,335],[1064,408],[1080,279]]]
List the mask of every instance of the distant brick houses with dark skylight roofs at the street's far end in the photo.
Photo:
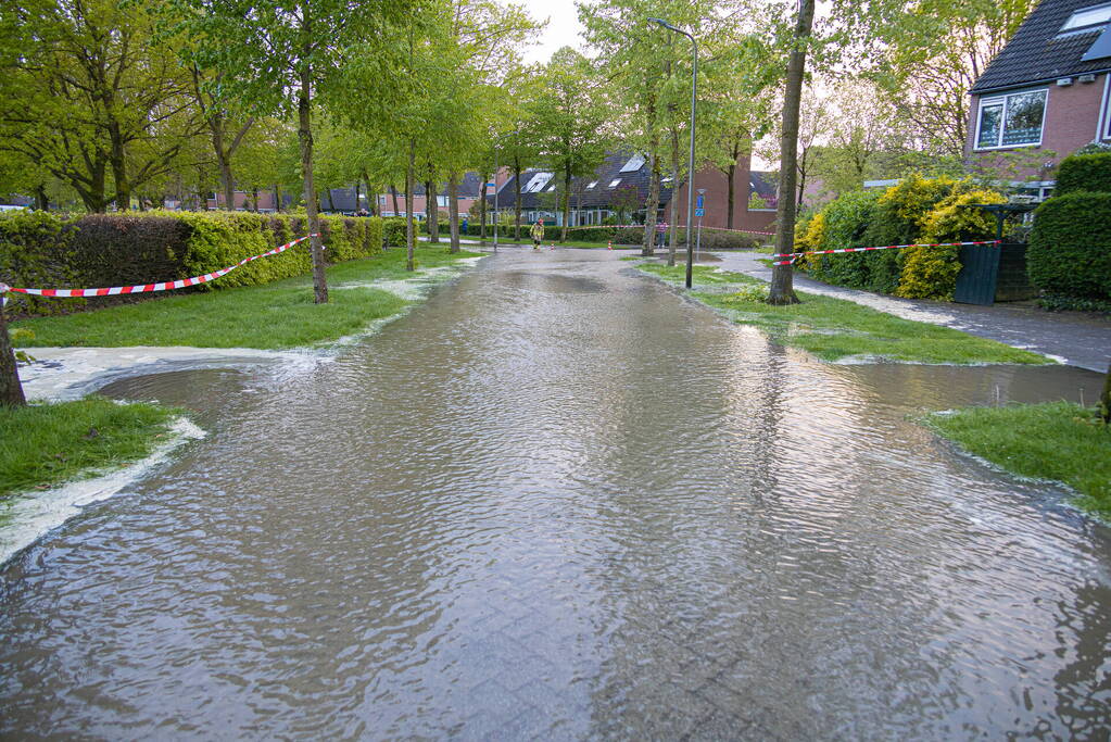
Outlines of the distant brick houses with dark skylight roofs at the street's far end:
[[[611,152],[593,174],[571,180],[571,225],[600,224],[627,211],[625,219],[635,223],[645,220],[644,202],[648,200],[651,171],[644,157],[629,152]],[[498,189],[498,210],[512,214],[517,199],[521,201],[521,221],[533,222],[542,217],[548,223],[561,225],[563,214],[559,208],[560,178],[550,170],[530,169],[521,173],[520,182],[510,177]],[[704,189],[702,225],[724,228],[728,223],[729,186],[725,174],[713,167],[705,167],[694,176],[695,190]],[[775,186],[770,173],[752,171],[749,158],[742,157],[733,179],[733,229],[771,231],[775,221]],[[768,208],[749,209],[749,199],[759,194]],[[677,198],[675,215],[680,224],[687,223],[687,183],[678,191],[664,176],[660,182],[658,219],[671,219],[671,200]],[[695,195],[697,199],[697,195]],[[493,194],[487,197],[493,210]],[[628,209],[622,202],[639,207]],[[622,208],[622,207],[625,208]],[[695,217],[697,219],[697,217]]]

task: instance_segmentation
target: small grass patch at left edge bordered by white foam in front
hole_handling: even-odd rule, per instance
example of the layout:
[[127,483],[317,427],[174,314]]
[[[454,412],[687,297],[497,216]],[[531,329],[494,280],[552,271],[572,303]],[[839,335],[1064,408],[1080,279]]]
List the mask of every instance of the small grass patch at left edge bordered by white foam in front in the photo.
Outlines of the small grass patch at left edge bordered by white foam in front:
[[0,407],[0,499],[144,459],[180,414],[176,408],[99,397]]

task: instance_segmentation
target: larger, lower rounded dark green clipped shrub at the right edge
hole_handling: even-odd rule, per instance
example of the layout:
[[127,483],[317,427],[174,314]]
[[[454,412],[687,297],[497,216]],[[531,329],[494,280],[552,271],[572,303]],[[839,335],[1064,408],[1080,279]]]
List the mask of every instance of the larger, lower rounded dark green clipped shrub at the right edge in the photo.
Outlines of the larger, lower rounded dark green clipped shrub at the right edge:
[[1034,217],[1027,249],[1031,282],[1053,294],[1111,300],[1111,193],[1054,195]]

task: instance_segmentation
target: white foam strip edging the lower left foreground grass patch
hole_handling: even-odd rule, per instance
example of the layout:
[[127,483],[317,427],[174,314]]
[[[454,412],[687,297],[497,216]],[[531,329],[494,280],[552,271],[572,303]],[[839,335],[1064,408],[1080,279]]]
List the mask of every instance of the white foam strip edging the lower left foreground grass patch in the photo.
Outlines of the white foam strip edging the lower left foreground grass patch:
[[170,427],[170,438],[142,461],[122,469],[94,470],[92,479],[82,479],[42,492],[10,495],[0,505],[6,521],[3,528],[0,528],[0,564],[66,523],[86,505],[107,500],[146,477],[164,463],[170,452],[182,443],[203,437],[203,430],[184,418],[178,418]]

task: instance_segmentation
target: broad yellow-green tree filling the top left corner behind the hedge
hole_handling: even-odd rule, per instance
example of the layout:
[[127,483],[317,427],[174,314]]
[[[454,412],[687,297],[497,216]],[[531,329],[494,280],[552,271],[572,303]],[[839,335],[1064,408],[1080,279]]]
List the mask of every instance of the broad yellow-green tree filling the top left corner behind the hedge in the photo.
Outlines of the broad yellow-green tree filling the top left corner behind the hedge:
[[170,171],[199,131],[189,76],[146,12],[114,0],[0,6],[0,150],[90,211]]

